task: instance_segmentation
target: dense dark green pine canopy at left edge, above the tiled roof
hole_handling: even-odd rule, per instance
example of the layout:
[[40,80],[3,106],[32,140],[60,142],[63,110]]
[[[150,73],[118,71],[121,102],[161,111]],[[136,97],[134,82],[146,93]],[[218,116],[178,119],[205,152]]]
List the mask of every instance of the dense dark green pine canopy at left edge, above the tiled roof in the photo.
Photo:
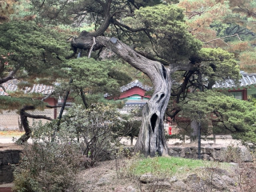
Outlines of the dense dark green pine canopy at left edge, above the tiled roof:
[[0,25],[0,78],[36,82],[58,78],[60,64],[68,52],[65,36],[34,22],[5,22]]

